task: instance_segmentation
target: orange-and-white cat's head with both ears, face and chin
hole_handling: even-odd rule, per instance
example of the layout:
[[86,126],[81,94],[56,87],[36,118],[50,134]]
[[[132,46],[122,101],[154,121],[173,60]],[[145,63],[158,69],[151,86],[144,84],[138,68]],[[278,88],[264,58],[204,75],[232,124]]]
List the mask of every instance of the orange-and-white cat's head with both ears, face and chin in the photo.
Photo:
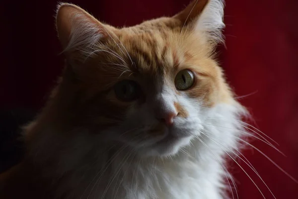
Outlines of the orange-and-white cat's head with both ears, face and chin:
[[223,7],[194,0],[173,17],[115,28],[60,4],[57,30],[69,66],[57,99],[72,96],[64,104],[73,122],[105,141],[142,155],[176,154],[200,134],[204,111],[233,103],[213,56]]

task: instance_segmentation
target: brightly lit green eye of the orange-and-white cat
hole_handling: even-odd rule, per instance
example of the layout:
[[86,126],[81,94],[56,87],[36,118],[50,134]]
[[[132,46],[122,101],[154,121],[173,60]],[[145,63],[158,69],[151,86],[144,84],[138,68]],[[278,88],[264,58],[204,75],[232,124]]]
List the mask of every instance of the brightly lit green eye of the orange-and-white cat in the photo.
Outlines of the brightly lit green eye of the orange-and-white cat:
[[175,77],[175,87],[178,90],[187,90],[194,85],[194,73],[188,69],[180,71]]

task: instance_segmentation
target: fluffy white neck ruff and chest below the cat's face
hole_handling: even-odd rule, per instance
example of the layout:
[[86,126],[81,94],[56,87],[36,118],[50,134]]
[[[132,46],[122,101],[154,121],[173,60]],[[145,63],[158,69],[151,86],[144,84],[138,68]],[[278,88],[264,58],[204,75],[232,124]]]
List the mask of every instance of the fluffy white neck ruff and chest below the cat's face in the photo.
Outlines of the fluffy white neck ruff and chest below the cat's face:
[[233,187],[226,182],[231,176],[224,158],[238,152],[242,112],[237,103],[205,110],[200,136],[170,158],[141,158],[128,147],[95,142],[86,132],[69,139],[53,131],[39,137],[31,154],[47,171],[43,178],[59,179],[56,198],[223,199]]

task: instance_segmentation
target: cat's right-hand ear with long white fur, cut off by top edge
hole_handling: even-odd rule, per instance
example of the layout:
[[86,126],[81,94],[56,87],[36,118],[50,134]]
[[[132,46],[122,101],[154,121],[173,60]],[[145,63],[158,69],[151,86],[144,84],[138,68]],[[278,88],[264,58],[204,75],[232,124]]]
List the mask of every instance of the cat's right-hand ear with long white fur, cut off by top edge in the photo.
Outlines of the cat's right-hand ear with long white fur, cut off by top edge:
[[224,0],[193,0],[184,10],[173,16],[183,29],[203,35],[209,44],[223,42]]

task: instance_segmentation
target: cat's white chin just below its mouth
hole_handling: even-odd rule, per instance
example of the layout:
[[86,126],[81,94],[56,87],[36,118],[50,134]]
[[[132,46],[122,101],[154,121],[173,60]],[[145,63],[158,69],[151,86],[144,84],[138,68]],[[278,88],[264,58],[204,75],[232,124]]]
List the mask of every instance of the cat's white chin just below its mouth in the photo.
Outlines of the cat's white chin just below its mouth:
[[174,137],[169,135],[153,145],[140,150],[142,156],[172,157],[178,154],[181,148],[190,145],[193,136]]

